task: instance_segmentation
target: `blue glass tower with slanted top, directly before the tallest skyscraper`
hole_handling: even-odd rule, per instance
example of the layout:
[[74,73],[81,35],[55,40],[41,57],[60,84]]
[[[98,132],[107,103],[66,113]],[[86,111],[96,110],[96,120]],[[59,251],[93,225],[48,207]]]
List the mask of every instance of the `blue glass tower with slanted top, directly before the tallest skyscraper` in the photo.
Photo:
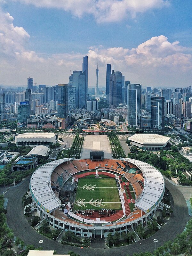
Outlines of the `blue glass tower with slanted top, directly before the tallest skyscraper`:
[[86,108],[86,71],[79,76],[79,108]]

